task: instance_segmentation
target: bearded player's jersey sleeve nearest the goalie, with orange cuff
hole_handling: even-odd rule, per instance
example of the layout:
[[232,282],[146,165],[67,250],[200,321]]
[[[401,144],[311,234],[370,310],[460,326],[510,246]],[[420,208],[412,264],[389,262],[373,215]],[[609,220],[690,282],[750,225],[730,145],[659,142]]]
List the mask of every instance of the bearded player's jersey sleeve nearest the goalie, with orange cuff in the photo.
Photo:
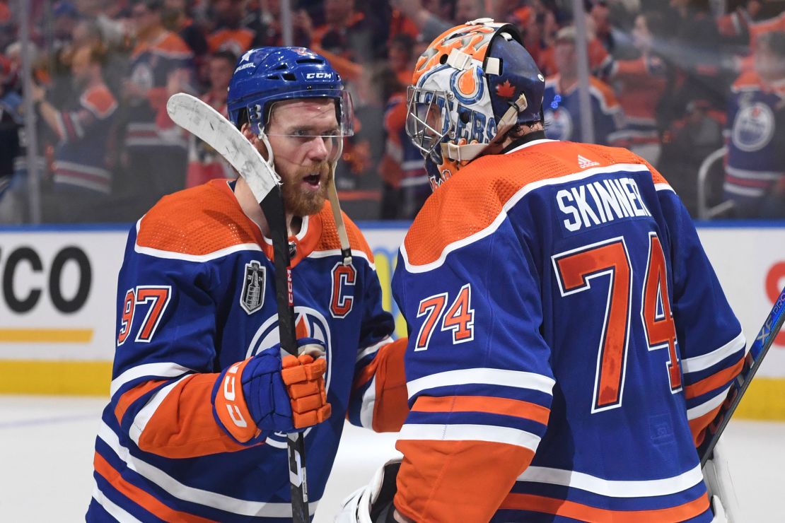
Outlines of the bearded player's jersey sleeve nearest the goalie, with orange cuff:
[[407,339],[392,340],[392,315],[382,308],[382,288],[367,268],[363,324],[357,351],[349,422],[377,432],[396,432],[408,412],[403,355]]

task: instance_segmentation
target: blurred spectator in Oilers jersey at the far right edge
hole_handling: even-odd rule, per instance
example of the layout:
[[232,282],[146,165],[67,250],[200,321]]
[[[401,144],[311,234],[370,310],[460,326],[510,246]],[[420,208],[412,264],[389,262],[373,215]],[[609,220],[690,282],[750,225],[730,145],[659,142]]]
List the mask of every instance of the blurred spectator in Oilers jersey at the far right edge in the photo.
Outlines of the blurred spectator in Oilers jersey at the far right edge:
[[785,218],[785,32],[760,35],[728,104],[725,198],[736,216]]

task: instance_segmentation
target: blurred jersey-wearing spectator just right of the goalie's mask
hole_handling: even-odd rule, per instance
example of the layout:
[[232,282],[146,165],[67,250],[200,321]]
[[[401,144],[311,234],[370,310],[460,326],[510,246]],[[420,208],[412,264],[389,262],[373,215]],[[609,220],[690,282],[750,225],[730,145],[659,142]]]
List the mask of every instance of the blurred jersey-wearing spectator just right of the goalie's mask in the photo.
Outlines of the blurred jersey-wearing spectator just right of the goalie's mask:
[[[578,58],[575,52],[575,27],[560,29],[553,45],[557,74],[546,81],[542,107],[547,122],[546,135],[555,140],[581,140],[580,96],[578,92]],[[624,113],[610,85],[589,77],[590,104],[593,114],[594,143],[613,145],[624,128]]]

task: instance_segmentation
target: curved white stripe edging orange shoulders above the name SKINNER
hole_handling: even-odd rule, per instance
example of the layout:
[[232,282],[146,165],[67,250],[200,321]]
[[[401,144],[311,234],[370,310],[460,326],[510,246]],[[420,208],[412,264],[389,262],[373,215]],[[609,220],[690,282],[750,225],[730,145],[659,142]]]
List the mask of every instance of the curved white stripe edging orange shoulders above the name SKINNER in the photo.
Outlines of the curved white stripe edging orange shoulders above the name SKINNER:
[[[540,140],[535,141],[540,142]],[[431,263],[425,263],[423,265],[415,265],[414,263],[411,263],[409,261],[409,255],[406,252],[406,243],[404,242],[403,245],[400,246],[400,253],[403,257],[403,263],[405,263],[406,270],[411,273],[418,273],[433,271],[437,267],[441,267],[442,264],[444,264],[444,260],[447,258],[447,254],[450,252],[461,249],[462,247],[466,247],[466,245],[471,245],[474,242],[479,242],[481,239],[493,234],[496,229],[498,229],[498,227],[501,226],[501,224],[507,219],[507,212],[509,209],[512,209],[518,202],[520,202],[521,198],[524,198],[524,196],[529,194],[531,191],[535,191],[540,187],[584,180],[585,178],[590,178],[591,176],[608,173],[648,173],[648,167],[644,164],[638,163],[618,163],[604,167],[593,167],[592,169],[583,170],[580,173],[572,173],[559,176],[557,178],[549,178],[547,180],[538,180],[536,182],[527,183],[524,185],[524,187],[521,187],[517,193],[513,194],[513,196],[509,198],[507,202],[505,202],[505,204],[502,206],[502,211],[498,213],[498,216],[496,216],[495,220],[493,220],[490,225],[474,234],[467,236],[466,238],[462,238],[456,242],[446,245],[444,250],[442,250],[439,258]]]

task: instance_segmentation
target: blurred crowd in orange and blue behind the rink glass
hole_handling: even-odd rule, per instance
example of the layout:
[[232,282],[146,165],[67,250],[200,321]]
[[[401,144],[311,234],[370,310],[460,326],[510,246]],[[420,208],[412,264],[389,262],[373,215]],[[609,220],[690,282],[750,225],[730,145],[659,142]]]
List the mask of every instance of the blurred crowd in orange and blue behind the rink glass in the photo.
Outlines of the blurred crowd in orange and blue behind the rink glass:
[[[290,3],[294,45],[326,56],[352,92],[336,184],[356,220],[409,220],[430,194],[404,129],[406,88],[433,38],[482,16],[515,24],[546,75],[547,136],[629,147],[693,216],[785,217],[785,2],[585,0],[590,129],[571,0]],[[237,60],[283,33],[279,0],[0,0],[0,223],[31,220],[30,158],[47,223],[130,222],[164,194],[235,176],[171,122],[166,100],[192,93],[225,112]]]

